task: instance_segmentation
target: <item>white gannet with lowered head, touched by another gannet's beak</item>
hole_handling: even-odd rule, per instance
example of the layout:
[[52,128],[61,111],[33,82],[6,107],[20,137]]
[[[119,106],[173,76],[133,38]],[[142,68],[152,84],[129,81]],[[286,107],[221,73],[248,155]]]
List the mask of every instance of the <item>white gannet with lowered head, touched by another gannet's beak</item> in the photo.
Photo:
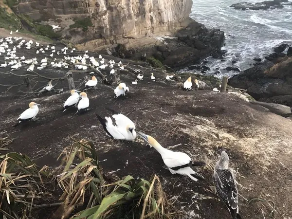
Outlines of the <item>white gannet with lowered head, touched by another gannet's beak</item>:
[[114,119],[115,125],[113,124],[110,116],[105,118],[100,117],[98,114],[96,114],[96,116],[111,138],[133,141],[137,137],[135,124],[122,113],[113,113],[114,114],[111,117]]

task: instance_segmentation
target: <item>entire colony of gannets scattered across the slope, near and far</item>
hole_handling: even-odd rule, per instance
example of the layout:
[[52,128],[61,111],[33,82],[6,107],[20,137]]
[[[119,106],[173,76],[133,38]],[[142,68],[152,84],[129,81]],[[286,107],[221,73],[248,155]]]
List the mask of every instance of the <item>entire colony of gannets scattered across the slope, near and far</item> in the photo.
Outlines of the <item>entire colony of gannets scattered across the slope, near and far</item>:
[[[58,28],[55,26],[53,28]],[[12,34],[12,32],[11,32]],[[37,58],[26,59],[24,56],[18,57],[17,50],[24,48],[31,50],[32,46],[36,48],[36,54],[45,54],[48,57],[45,57],[41,60]],[[93,56],[89,56],[88,51],[85,51],[83,56],[70,56],[75,49],[69,49],[64,47],[60,50],[56,50],[55,46],[43,46],[38,42],[33,42],[32,40],[26,41],[22,37],[6,37],[0,39],[0,56],[4,56],[4,63],[0,64],[1,68],[6,68],[10,71],[15,71],[21,69],[21,71],[33,72],[37,66],[37,70],[42,70],[48,66],[59,68],[68,68],[69,64],[75,64],[77,70],[87,70],[88,65],[90,64],[93,68],[96,68],[99,71],[110,68],[110,74],[114,74],[117,69],[119,71],[124,70],[124,65],[119,62],[115,63],[113,60],[110,60],[109,63],[106,63],[106,60],[99,55],[96,59]],[[50,57],[50,58],[49,58]],[[49,61],[53,59],[53,61]],[[76,64],[77,63],[77,64]],[[78,64],[80,63],[80,64]],[[144,76],[141,70],[134,70],[137,75],[137,79],[132,82],[132,85],[135,86],[140,81],[143,80]],[[91,72],[90,74],[94,74]],[[148,75],[151,81],[155,82],[156,78],[153,73]],[[173,75],[167,75],[165,80],[171,80]],[[152,82],[152,83],[153,83]],[[72,90],[70,91],[70,96],[67,100],[64,100],[64,105],[61,111],[66,111],[69,109],[75,109],[75,114],[81,115],[82,113],[89,110],[90,99],[85,91],[94,89],[97,85],[98,80],[93,75],[90,80],[85,83],[83,91]],[[185,91],[191,91],[193,88],[198,89],[199,83],[198,80],[195,80],[195,85],[192,83],[192,78],[189,77],[183,83],[183,89]],[[49,92],[53,91],[54,86],[52,81],[40,91]],[[114,98],[119,98],[125,96],[129,92],[129,88],[125,83],[120,83],[114,89]],[[17,124],[15,126],[26,123],[30,120],[36,120],[37,114],[39,112],[39,104],[35,102],[29,103],[29,108],[23,111],[17,119]],[[180,174],[185,177],[189,177],[191,180],[204,181],[205,178],[199,174],[195,167],[205,165],[201,161],[192,161],[189,155],[179,151],[172,151],[166,149],[159,142],[150,135],[142,133],[136,130],[135,124],[125,115],[120,112],[108,109],[111,112],[111,116],[102,117],[96,113],[96,117],[102,125],[103,129],[107,135],[114,140],[125,140],[125,141],[134,141],[137,137],[143,139],[147,145],[154,147],[158,153],[160,153],[161,158],[165,164],[164,168],[168,169],[171,174]],[[230,212],[232,219],[241,219],[238,214],[238,192],[237,184],[235,179],[235,173],[229,168],[229,157],[225,151],[221,152],[219,161],[217,162],[214,175],[213,175],[215,187],[220,199],[226,204],[227,209]]]

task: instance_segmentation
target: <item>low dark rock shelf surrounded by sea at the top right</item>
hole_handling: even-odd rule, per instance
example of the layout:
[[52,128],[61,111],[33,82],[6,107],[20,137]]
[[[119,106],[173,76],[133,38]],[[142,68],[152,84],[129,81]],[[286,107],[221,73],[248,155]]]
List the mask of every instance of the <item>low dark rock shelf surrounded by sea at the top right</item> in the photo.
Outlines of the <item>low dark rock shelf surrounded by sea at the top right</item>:
[[288,0],[273,0],[273,1],[262,1],[256,3],[240,2],[232,4],[230,7],[238,10],[268,10],[275,8],[283,8],[282,2],[288,2]]

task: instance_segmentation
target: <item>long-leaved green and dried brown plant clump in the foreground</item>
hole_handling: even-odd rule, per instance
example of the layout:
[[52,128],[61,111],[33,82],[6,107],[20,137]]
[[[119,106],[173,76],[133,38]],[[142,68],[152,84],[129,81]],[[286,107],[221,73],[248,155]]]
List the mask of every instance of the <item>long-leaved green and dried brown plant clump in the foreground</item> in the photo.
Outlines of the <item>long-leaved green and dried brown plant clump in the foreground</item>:
[[[94,145],[76,141],[55,169],[18,153],[0,156],[0,212],[6,218],[173,219],[159,178],[148,182],[103,173]],[[74,163],[73,163],[74,162]]]

